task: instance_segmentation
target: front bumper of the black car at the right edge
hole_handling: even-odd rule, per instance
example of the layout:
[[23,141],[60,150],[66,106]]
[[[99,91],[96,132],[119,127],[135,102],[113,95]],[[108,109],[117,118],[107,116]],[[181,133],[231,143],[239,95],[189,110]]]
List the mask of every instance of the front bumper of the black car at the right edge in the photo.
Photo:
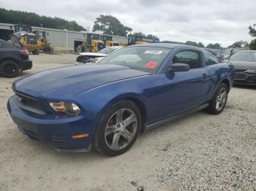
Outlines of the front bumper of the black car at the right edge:
[[256,74],[247,72],[235,72],[235,85],[256,85]]

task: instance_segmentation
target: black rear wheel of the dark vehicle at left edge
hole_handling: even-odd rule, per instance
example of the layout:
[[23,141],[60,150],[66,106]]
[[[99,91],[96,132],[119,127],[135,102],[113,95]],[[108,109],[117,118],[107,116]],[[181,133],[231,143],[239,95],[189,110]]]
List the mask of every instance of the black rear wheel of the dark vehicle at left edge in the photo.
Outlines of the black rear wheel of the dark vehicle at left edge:
[[2,77],[16,77],[20,74],[20,67],[15,61],[4,61],[0,64],[0,74]]

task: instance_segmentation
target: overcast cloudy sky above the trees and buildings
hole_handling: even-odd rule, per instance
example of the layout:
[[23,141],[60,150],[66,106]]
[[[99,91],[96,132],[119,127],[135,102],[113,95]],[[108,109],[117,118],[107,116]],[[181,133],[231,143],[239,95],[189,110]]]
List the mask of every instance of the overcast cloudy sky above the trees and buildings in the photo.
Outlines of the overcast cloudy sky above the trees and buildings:
[[248,26],[256,23],[255,0],[0,0],[0,7],[75,20],[90,31],[99,15],[113,15],[132,32],[222,47],[250,42]]

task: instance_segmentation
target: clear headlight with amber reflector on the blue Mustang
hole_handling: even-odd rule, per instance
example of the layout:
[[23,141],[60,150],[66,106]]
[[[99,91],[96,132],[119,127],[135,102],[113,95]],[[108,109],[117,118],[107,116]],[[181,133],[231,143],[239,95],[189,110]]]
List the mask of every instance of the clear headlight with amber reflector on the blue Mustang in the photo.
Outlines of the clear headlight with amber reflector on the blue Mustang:
[[66,114],[80,114],[79,107],[72,102],[48,102],[50,107],[56,111]]

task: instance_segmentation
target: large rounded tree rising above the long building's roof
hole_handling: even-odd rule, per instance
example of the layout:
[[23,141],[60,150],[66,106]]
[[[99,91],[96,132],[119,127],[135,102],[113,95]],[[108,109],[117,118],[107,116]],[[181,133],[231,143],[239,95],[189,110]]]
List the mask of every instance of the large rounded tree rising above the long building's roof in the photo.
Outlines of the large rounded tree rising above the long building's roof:
[[124,26],[116,17],[111,15],[99,15],[94,21],[93,31],[101,31],[103,34],[115,36],[127,36],[132,28]]

